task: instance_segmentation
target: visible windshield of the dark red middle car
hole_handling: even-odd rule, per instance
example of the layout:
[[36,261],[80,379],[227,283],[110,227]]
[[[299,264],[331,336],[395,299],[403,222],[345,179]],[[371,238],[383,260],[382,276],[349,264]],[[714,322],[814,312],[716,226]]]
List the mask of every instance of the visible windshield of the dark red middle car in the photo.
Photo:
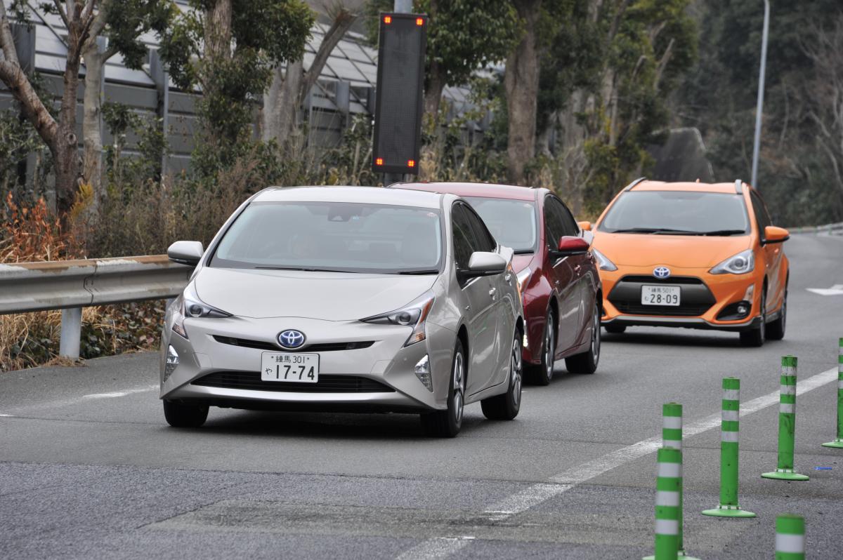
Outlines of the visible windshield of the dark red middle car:
[[536,239],[535,205],[529,200],[510,200],[466,196],[470,205],[486,222],[497,243],[515,253],[534,253]]

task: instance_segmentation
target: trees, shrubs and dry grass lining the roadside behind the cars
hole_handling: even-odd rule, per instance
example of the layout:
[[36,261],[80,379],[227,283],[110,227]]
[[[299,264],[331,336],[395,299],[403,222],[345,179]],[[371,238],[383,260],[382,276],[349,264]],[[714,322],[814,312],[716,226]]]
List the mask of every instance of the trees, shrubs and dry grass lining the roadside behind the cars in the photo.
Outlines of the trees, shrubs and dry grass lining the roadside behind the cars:
[[[701,130],[718,179],[749,179],[763,13],[755,4],[416,0],[431,29],[419,179],[543,186],[593,219],[652,168],[648,146],[689,125]],[[777,221],[791,226],[843,220],[843,11],[835,0],[808,4],[775,7],[758,185]],[[298,108],[353,24],[362,20],[376,43],[377,13],[392,0],[368,0],[360,13],[336,3],[307,68],[315,14],[303,0],[191,0],[192,11],[169,0],[40,3],[35,9],[57,11],[69,29],[61,98],[17,60],[9,21],[27,24],[34,5],[0,4],[0,81],[16,102],[0,112],[0,263],[163,253],[176,239],[207,244],[266,185],[381,180],[369,165],[368,116],[353,117],[336,147],[315,147]],[[111,56],[142,65],[142,33],[158,37],[179,88],[204,92],[185,173],[162,173],[169,147],[159,120],[100,94],[98,72]],[[105,51],[97,35],[109,38]],[[72,99],[82,79],[76,138]],[[454,111],[445,84],[468,86],[472,109]],[[115,138],[110,146],[99,119]],[[83,356],[155,347],[161,308],[86,309]],[[0,368],[53,359],[60,315],[0,316]]]

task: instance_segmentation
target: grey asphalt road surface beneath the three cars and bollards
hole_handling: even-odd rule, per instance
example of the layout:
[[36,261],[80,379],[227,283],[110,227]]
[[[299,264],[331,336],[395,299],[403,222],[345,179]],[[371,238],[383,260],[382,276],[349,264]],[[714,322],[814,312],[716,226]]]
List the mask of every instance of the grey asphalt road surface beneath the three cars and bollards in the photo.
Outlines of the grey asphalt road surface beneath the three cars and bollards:
[[[157,355],[0,376],[2,558],[640,558],[652,553],[661,406],[685,407],[685,546],[771,558],[775,518],[806,517],[808,557],[843,557],[843,451],[834,437],[843,239],[795,236],[787,337],[631,328],[605,335],[593,376],[527,387],[513,422],[466,409],[454,440],[416,416],[212,408],[164,423]],[[799,359],[797,470],[776,467],[781,355]],[[738,376],[740,500],[718,502],[721,378]],[[831,470],[815,470],[831,467]]]

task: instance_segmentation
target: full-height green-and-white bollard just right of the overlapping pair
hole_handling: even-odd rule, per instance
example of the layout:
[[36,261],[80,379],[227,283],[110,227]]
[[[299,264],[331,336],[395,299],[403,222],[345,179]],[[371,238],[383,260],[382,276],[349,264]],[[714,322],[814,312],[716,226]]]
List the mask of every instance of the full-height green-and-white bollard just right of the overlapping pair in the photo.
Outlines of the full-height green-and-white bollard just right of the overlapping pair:
[[720,420],[720,504],[702,515],[715,517],[754,517],[738,505],[738,433],[740,431],[740,380],[723,378]]

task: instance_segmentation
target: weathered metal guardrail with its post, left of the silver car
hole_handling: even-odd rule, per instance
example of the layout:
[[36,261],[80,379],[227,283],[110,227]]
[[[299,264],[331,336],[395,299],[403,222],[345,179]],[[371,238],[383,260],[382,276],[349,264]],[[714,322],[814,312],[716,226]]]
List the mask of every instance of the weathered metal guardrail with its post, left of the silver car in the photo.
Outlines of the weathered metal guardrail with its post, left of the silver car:
[[76,360],[83,307],[175,297],[192,272],[167,255],[0,264],[0,314],[62,309],[59,354]]

